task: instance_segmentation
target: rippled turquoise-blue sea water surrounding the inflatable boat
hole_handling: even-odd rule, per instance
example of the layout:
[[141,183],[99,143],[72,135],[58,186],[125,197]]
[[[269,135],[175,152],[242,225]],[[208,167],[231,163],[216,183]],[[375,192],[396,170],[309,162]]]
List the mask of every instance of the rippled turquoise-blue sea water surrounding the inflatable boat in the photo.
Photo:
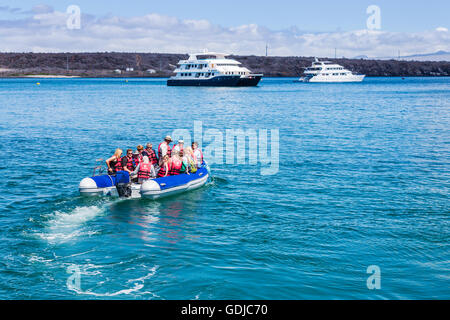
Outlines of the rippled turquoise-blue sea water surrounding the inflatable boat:
[[[293,80],[1,79],[0,298],[450,299],[450,78]],[[278,172],[79,195],[96,159],[194,121],[278,130]]]

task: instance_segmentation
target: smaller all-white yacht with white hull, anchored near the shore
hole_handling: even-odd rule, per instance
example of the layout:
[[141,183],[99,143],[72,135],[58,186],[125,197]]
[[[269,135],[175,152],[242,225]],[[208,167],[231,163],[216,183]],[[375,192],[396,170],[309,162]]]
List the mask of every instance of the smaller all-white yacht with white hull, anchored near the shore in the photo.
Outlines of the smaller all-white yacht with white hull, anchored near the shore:
[[315,58],[311,67],[305,68],[301,82],[361,82],[365,75],[354,74],[343,66]]

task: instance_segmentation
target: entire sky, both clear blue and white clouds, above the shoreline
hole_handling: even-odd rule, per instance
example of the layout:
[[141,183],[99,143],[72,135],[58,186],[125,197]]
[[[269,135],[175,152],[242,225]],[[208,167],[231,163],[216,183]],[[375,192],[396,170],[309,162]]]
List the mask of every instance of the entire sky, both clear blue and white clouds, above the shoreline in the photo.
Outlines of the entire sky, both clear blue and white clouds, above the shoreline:
[[[69,5],[82,13],[66,27]],[[367,30],[366,9],[381,10]],[[450,51],[450,1],[2,0],[0,51],[137,51],[369,57]]]

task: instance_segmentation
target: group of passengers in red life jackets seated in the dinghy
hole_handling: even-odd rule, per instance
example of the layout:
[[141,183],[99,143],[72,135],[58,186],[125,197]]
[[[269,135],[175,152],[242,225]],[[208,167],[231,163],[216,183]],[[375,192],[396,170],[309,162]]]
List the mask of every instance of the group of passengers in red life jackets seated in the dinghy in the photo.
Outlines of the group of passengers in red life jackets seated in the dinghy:
[[123,157],[122,150],[117,148],[114,155],[106,160],[108,174],[127,171],[132,180],[143,183],[148,179],[197,172],[203,163],[203,153],[198,143],[193,142],[192,147],[186,148],[183,140],[178,140],[172,148],[171,143],[172,138],[166,136],[158,146],[158,155],[151,143],[147,143],[145,149],[142,145],[138,145],[136,151],[128,149]]

